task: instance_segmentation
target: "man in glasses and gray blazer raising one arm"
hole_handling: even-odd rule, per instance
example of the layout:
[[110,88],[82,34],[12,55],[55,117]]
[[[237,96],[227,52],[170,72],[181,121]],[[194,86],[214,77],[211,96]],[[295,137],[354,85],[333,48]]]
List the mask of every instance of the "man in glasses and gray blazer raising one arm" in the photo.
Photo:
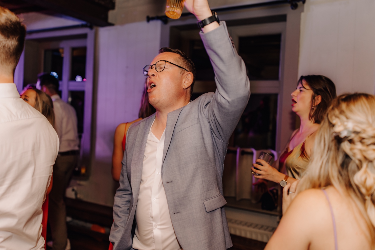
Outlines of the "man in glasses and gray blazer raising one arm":
[[[187,0],[198,20],[207,0]],[[223,206],[224,157],[250,96],[243,60],[225,22],[200,33],[215,72],[216,92],[190,102],[195,69],[163,48],[144,68],[156,113],[127,132],[113,207],[114,250],[222,250],[232,246]]]

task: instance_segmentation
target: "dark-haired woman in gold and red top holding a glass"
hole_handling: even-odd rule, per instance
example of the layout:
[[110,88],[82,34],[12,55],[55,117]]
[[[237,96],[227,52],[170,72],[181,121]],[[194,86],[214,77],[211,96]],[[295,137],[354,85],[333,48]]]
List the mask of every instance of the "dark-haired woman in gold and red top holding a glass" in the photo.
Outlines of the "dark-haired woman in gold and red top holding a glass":
[[[292,92],[292,110],[300,117],[300,127],[295,130],[288,145],[280,156],[279,170],[266,161],[258,159],[252,171],[255,178],[280,183],[282,187],[301,179],[306,170],[320,123],[332,100],[336,98],[335,84],[323,75],[305,75],[298,80],[297,89]],[[286,174],[282,172],[284,169]],[[255,169],[256,168],[256,169]],[[260,185],[263,181],[257,182]]]

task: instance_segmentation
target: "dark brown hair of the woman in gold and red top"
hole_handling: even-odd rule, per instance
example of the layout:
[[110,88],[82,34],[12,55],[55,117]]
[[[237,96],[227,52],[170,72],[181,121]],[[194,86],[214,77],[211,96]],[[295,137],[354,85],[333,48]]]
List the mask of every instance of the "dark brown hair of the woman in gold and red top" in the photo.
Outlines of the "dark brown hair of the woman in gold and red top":
[[[330,78],[324,75],[302,75],[297,84],[301,83],[303,86],[302,80],[305,80],[313,92],[309,119],[314,121],[314,123],[320,124],[332,100],[336,98],[335,84]],[[305,87],[303,86],[303,88]],[[318,105],[315,105],[315,98],[318,95],[322,97],[322,100]]]

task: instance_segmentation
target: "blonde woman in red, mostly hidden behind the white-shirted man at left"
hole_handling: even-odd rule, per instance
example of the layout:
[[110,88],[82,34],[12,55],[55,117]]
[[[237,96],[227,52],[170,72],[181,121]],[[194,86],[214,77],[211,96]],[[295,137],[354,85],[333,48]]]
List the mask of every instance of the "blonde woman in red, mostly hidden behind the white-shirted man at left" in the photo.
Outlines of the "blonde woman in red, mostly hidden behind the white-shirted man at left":
[[[55,124],[55,113],[53,111],[53,103],[51,97],[44,93],[43,91],[36,89],[35,87],[28,87],[24,92],[21,93],[21,98],[26,101],[31,107],[34,107],[37,111],[43,114],[51,123],[52,127]],[[51,182],[49,183],[49,187],[47,189],[46,199],[43,202],[42,211],[43,211],[43,219],[42,219],[42,236],[44,238],[44,248],[47,248],[47,220],[48,220],[48,200],[49,200],[49,193],[51,193],[53,185],[53,175],[51,176]]]

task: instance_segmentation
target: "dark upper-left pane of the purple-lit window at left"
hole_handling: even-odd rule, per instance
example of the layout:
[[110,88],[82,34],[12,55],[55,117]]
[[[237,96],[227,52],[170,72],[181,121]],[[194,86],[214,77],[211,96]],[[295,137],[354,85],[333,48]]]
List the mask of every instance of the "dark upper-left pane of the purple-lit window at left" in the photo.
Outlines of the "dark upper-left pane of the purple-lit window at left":
[[46,73],[55,72],[58,76],[58,80],[62,80],[63,59],[63,48],[44,50],[43,71]]

